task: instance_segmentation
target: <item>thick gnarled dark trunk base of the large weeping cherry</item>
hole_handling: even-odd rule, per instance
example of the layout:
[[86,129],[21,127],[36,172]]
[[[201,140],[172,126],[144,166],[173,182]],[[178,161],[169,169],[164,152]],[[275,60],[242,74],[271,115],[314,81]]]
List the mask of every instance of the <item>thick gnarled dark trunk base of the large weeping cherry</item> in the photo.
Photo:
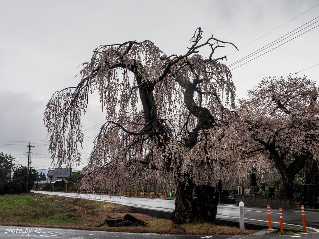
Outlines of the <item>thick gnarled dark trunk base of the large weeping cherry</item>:
[[175,198],[173,222],[216,222],[219,192],[214,187],[197,186],[192,180],[188,180],[188,185],[176,185]]

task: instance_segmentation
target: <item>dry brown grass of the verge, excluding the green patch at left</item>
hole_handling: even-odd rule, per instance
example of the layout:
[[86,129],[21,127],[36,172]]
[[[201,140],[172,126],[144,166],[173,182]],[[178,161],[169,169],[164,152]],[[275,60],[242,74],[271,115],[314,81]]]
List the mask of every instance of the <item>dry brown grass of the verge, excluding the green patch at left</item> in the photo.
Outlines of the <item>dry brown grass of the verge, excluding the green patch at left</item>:
[[[34,195],[34,194],[30,194]],[[32,227],[51,227],[51,228],[72,228],[85,230],[99,230],[110,232],[137,232],[137,233],[159,233],[159,234],[188,234],[188,235],[238,235],[251,234],[253,230],[240,230],[239,228],[231,228],[227,226],[217,226],[210,223],[189,223],[182,224],[185,231],[175,229],[175,224],[170,220],[159,219],[144,214],[132,213],[129,206],[124,206],[115,203],[93,201],[79,198],[68,198],[54,196],[48,194],[38,194],[39,197],[34,197],[34,200],[43,200],[47,203],[56,204],[63,207],[63,213],[52,216],[32,218],[25,216],[25,220],[19,218],[0,218],[1,225],[10,226],[32,226]],[[44,197],[44,198],[41,198]],[[60,200],[62,202],[54,201]],[[106,224],[102,227],[96,227],[104,222],[107,217],[124,217],[125,214],[148,222],[147,226],[139,227],[109,227]]]

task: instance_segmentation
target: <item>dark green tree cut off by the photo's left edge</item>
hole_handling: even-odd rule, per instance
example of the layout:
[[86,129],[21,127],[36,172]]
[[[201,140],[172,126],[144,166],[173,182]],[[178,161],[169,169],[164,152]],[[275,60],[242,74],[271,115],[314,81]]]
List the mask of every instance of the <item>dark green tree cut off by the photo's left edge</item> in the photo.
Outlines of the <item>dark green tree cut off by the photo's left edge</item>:
[[0,193],[11,190],[10,182],[14,170],[14,158],[11,155],[0,153]]

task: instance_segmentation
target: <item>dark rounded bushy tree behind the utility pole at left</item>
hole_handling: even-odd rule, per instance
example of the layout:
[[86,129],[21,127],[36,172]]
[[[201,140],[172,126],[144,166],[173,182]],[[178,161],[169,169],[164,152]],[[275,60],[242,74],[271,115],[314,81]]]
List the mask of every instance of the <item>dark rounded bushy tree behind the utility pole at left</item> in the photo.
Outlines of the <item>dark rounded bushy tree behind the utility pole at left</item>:
[[[14,192],[25,192],[27,170],[28,169],[26,166],[20,166],[19,170],[14,171],[12,180]],[[39,174],[37,170],[35,168],[29,167],[28,188],[33,188],[33,185],[38,178]]]

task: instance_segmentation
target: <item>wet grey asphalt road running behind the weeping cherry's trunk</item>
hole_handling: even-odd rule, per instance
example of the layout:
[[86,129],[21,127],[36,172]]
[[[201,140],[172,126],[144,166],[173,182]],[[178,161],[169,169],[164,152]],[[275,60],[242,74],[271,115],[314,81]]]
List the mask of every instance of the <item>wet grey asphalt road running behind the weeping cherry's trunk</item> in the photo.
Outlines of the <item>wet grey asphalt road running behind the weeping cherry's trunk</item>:
[[[152,210],[160,210],[166,212],[174,211],[174,200],[172,199],[156,199],[156,198],[136,198],[123,196],[109,196],[100,194],[79,194],[72,192],[42,192],[33,191],[35,193],[47,193],[58,196],[84,198],[91,200],[107,201],[119,203],[132,207],[146,208]],[[248,207],[244,210],[245,223],[268,226],[267,208]],[[216,218],[239,222],[239,206],[234,204],[219,204]],[[319,212],[306,211],[306,227],[309,231],[319,232]],[[302,227],[300,210],[283,210],[284,228],[300,229]],[[279,224],[279,208],[271,208],[271,224],[272,227],[280,227]]]

